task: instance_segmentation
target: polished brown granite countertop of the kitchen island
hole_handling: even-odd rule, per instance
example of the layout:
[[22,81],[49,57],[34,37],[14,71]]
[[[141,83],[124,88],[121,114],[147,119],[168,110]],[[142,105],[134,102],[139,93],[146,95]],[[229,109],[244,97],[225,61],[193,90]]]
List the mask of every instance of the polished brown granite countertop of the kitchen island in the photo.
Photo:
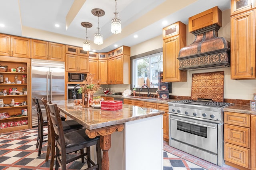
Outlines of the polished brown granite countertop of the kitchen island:
[[89,130],[164,114],[164,111],[157,109],[148,109],[125,104],[123,104],[123,109],[121,110],[104,111],[92,107],[84,108],[82,106],[74,106],[73,100],[52,101],[52,103],[56,103],[61,112]]

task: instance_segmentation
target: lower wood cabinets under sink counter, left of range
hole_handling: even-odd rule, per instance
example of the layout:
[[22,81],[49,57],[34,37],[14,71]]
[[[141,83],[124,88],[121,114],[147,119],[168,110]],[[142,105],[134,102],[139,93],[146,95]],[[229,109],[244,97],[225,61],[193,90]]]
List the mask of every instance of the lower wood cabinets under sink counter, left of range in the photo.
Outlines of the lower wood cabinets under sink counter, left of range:
[[153,102],[144,102],[137,100],[124,99],[124,104],[134,105],[140,107],[147,107],[152,109],[158,109],[164,111],[163,114],[163,136],[164,141],[169,142],[169,115],[168,115],[168,104],[153,103]]

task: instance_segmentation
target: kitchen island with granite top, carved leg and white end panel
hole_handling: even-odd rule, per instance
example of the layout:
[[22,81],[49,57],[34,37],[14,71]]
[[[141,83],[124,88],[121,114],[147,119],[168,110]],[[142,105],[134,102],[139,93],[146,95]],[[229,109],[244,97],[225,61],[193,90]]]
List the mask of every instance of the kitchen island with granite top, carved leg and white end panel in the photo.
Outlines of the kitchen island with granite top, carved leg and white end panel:
[[103,111],[74,106],[72,101],[53,103],[83,125],[89,137],[100,136],[102,170],[163,169],[164,111],[130,105],[118,111]]

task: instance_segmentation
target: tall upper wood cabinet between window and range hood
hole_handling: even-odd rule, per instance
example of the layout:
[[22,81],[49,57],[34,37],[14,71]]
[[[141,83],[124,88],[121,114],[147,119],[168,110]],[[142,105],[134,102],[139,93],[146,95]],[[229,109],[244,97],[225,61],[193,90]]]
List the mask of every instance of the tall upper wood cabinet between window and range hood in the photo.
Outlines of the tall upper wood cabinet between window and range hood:
[[179,70],[178,55],[186,46],[186,25],[176,22],[163,28],[163,81],[187,81],[187,71]]

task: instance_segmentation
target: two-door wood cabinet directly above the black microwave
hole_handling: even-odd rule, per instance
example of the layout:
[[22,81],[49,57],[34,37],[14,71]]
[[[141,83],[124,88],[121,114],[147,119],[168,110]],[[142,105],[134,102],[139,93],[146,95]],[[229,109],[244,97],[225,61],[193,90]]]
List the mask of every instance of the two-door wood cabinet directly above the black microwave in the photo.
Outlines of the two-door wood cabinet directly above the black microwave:
[[66,54],[66,71],[89,72],[89,57]]

